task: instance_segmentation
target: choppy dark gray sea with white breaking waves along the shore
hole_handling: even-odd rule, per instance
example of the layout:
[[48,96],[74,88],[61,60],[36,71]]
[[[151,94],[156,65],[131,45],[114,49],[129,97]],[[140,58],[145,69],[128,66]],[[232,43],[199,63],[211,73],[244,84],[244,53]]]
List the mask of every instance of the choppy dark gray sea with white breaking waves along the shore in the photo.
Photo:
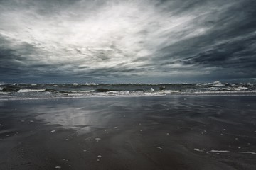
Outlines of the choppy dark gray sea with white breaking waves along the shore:
[[1,84],[0,99],[86,96],[168,96],[172,94],[255,95],[255,84]]

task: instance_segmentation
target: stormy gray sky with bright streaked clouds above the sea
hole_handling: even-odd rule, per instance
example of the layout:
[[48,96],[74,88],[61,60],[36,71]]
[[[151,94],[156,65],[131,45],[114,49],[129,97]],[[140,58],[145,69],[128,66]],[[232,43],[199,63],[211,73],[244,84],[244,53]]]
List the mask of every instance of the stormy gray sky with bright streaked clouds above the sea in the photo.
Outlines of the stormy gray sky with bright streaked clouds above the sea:
[[255,81],[255,8],[255,0],[0,0],[0,81]]

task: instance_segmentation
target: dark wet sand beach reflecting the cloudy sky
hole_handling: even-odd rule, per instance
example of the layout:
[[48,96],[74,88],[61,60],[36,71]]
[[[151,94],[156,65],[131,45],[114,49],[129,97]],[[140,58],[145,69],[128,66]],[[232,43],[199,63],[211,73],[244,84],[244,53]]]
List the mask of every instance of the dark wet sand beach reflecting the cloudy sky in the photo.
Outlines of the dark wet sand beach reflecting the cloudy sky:
[[255,101],[0,101],[0,169],[256,169]]

